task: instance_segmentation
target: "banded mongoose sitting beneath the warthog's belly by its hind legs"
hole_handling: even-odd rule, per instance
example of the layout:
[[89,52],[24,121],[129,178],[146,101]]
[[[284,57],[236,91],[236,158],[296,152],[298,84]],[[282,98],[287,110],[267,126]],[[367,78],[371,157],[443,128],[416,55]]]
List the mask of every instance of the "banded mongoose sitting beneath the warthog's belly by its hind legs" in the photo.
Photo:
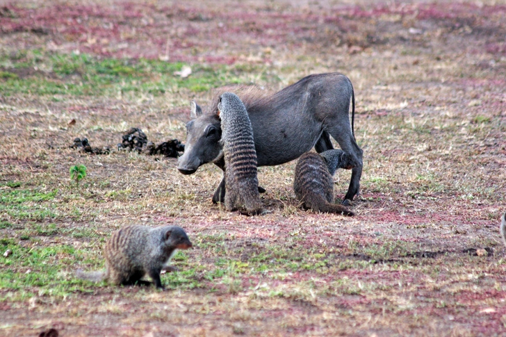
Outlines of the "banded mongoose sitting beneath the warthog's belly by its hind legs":
[[328,150],[321,154],[307,152],[295,165],[293,189],[304,208],[326,213],[354,215],[345,206],[334,204],[334,179],[337,168],[348,165],[342,150]]

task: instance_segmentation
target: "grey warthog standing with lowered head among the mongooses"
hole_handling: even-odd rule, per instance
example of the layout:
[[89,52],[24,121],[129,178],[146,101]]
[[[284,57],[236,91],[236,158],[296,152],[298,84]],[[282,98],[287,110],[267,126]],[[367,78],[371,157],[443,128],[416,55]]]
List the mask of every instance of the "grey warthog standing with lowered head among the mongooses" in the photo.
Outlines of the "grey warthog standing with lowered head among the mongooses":
[[[354,137],[355,98],[348,77],[338,73],[313,74],[271,96],[252,92],[238,93],[238,96],[250,116],[258,166],[293,161],[312,147],[318,153],[333,149],[329,138],[332,135],[350,159],[345,168],[352,169],[343,204],[359,194],[363,151]],[[193,174],[205,163],[215,163],[225,170],[220,144],[219,97],[220,93],[206,113],[192,102],[192,120],[186,124],[186,145],[178,160],[179,172]],[[214,203],[224,200],[225,174],[213,195]]]

